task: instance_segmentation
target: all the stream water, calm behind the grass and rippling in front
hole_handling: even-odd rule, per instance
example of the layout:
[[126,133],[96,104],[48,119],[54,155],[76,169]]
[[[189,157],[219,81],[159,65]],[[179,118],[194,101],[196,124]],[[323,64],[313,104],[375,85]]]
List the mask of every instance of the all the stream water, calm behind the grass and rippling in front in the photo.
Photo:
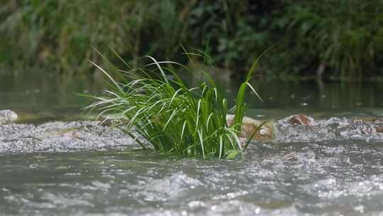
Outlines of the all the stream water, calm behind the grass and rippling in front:
[[[73,92],[96,93],[99,85],[33,77],[0,76],[0,109],[20,115],[24,134],[28,126],[50,133],[47,122],[92,117],[80,109],[87,99]],[[159,155],[128,143],[20,148],[10,142],[0,148],[0,215],[383,215],[383,134],[352,120],[383,124],[382,83],[255,86],[265,102],[249,97],[248,116],[304,113],[321,120],[296,126],[295,134],[285,130],[279,141],[255,142],[234,161]]]

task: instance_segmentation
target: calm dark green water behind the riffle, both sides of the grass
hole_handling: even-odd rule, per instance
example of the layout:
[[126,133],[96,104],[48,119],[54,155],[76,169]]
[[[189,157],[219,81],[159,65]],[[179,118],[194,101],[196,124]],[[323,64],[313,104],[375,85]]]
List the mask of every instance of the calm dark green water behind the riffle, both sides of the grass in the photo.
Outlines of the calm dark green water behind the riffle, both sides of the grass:
[[[255,80],[252,85],[264,100],[262,103],[255,95],[248,94],[248,107],[255,115],[261,113],[276,118],[273,113],[277,117],[296,112],[383,114],[381,82],[326,82],[320,85],[315,80]],[[39,75],[38,72],[19,77],[0,75],[0,109],[43,116],[79,114],[80,109],[89,104],[89,99],[74,92],[98,94],[104,86],[102,77],[63,78],[46,73]],[[221,81],[229,102],[235,99],[238,87],[239,81]]]

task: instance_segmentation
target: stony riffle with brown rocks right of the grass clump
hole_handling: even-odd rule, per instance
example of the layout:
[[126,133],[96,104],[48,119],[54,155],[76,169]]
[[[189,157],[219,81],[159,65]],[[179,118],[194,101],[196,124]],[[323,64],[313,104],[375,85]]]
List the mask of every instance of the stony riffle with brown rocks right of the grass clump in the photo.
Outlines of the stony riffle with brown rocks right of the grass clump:
[[[233,118],[233,115],[226,117],[229,125]],[[244,117],[241,138],[246,141],[262,122]],[[295,114],[277,121],[268,121],[252,138],[253,141],[282,143],[343,139],[382,141],[383,119],[313,119],[304,114]]]

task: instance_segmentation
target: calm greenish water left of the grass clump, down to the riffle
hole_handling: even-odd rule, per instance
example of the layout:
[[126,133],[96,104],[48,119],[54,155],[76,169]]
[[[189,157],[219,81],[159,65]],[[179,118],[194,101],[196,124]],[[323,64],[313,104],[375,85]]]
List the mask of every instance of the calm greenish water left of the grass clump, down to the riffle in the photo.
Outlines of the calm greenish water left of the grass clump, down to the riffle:
[[89,98],[76,93],[99,94],[103,86],[102,78],[65,78],[32,71],[18,77],[0,74],[0,109],[12,109],[27,121],[79,117]]

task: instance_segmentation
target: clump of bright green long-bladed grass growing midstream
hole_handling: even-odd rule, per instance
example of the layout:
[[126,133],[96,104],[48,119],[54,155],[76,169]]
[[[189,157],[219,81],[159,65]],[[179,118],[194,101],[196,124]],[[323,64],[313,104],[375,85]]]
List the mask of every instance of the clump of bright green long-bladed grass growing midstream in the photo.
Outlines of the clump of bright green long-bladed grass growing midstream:
[[[117,82],[93,63],[108,77],[111,88],[105,91],[104,97],[94,96],[97,101],[88,108],[100,109],[100,115],[117,114],[118,126],[123,131],[136,141],[138,136],[143,136],[159,153],[203,158],[235,158],[238,153],[243,156],[243,147],[248,144],[240,141],[243,139],[239,137],[245,112],[244,97],[248,88],[257,95],[248,82],[257,61],[240,86],[235,107],[228,109],[227,99],[218,91],[208,73],[204,72],[204,80],[207,81],[201,81],[196,87],[187,87],[172,65],[184,68],[191,75],[193,70],[178,63],[158,62],[150,56],[146,58],[152,63],[144,68],[120,70],[124,75],[123,82]],[[230,112],[235,113],[232,125],[226,122],[226,114]],[[248,137],[248,141],[251,139]],[[149,148],[148,144],[138,143],[142,148]]]

